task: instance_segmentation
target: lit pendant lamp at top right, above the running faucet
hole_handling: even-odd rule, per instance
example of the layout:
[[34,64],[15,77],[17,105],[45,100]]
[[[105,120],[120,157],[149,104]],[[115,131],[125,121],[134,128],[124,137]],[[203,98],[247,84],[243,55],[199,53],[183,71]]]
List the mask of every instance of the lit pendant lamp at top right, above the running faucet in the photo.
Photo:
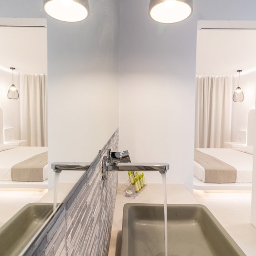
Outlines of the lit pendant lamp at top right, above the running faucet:
[[150,0],[149,16],[160,23],[176,23],[189,17],[192,0]]

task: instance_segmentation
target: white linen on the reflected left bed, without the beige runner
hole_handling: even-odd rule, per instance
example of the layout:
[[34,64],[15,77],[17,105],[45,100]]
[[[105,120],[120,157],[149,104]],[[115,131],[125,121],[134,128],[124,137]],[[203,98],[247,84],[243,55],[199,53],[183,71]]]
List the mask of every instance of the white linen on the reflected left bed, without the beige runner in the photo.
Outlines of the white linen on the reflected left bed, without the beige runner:
[[[11,168],[13,165],[48,150],[44,146],[10,146],[10,149],[4,148],[0,151],[0,181],[12,181]],[[48,165],[43,169],[43,179],[48,179]]]

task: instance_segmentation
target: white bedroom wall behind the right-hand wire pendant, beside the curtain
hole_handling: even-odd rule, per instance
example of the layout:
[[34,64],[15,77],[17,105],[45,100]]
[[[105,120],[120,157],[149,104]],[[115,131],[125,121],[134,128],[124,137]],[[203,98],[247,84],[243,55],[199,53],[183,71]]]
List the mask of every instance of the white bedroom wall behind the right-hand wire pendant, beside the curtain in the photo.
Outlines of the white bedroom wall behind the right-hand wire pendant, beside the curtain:
[[[238,86],[238,76],[233,77],[233,90]],[[231,139],[236,141],[238,130],[247,130],[248,112],[255,109],[256,95],[256,71],[248,74],[240,75],[240,87],[244,92],[244,101],[232,101],[232,130]]]

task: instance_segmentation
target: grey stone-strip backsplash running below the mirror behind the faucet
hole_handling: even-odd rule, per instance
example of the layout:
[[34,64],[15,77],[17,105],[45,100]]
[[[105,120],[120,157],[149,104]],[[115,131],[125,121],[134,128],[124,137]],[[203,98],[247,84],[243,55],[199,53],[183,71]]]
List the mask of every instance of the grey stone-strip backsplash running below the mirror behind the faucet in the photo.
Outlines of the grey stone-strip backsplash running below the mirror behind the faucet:
[[118,183],[117,172],[102,180],[102,158],[108,148],[118,150],[118,130],[25,255],[108,255]]

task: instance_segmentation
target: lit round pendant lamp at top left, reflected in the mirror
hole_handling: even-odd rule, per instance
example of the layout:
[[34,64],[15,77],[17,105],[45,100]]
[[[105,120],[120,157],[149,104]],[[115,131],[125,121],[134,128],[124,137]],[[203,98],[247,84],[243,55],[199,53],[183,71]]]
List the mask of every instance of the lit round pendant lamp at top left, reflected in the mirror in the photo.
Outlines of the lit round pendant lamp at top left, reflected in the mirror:
[[60,21],[77,22],[89,14],[88,0],[44,0],[45,11]]

